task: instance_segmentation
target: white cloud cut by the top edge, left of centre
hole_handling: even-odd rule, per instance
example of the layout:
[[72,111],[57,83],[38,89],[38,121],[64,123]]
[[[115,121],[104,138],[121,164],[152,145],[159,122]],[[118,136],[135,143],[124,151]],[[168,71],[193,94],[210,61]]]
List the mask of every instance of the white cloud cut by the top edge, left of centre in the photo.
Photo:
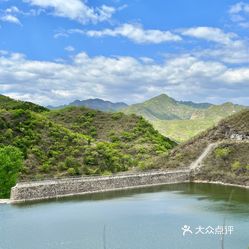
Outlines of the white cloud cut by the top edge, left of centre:
[[89,7],[81,0],[23,0],[31,5],[44,9],[53,10],[53,14],[78,21],[82,24],[87,22],[102,22],[110,19],[116,9],[102,5],[98,8]]

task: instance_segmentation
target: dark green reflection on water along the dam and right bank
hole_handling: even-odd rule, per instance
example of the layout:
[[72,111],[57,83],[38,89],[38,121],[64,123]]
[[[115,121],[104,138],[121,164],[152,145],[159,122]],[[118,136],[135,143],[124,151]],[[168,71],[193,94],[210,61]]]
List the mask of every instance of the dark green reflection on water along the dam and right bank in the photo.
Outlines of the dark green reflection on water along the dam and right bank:
[[[102,201],[118,198],[128,198],[160,192],[173,192],[174,194],[195,197],[198,201],[209,201],[206,209],[214,212],[227,212],[249,215],[249,189],[224,186],[209,183],[182,183],[163,186],[152,186],[138,189],[118,190],[87,194],[83,196],[65,197],[46,201],[31,202],[29,204],[19,204],[19,208],[27,208],[33,205],[45,205],[51,202],[82,202],[82,201]],[[211,201],[211,202],[210,202]]]

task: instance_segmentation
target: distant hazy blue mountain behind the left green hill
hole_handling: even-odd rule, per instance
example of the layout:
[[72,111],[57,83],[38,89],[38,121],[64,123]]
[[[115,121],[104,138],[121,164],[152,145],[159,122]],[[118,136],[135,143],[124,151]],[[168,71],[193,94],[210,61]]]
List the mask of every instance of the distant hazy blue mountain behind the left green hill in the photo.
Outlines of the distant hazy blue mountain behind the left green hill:
[[123,102],[113,103],[110,101],[105,101],[105,100],[96,98],[96,99],[86,99],[86,100],[75,100],[68,105],[63,105],[63,106],[58,106],[58,107],[48,106],[48,108],[49,109],[61,109],[67,106],[84,106],[90,109],[95,109],[95,110],[99,110],[103,112],[114,112],[122,108],[125,108],[128,105]]

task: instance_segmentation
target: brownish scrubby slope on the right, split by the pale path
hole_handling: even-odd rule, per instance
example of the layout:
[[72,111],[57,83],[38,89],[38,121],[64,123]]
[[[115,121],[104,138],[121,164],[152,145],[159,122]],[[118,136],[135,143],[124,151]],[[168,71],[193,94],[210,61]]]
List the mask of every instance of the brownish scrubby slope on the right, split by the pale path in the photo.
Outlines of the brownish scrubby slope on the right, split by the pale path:
[[197,180],[249,185],[249,110],[243,110],[179,145],[156,162],[161,168],[184,168],[210,144],[216,144],[196,176]]

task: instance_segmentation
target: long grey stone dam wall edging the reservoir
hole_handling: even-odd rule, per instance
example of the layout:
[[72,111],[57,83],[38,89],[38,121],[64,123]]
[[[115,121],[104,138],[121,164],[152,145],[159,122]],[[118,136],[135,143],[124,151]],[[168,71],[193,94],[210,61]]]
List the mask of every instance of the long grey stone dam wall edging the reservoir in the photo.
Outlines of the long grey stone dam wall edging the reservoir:
[[11,190],[11,203],[189,181],[190,170],[177,170],[18,183]]

